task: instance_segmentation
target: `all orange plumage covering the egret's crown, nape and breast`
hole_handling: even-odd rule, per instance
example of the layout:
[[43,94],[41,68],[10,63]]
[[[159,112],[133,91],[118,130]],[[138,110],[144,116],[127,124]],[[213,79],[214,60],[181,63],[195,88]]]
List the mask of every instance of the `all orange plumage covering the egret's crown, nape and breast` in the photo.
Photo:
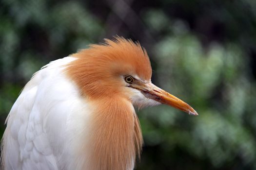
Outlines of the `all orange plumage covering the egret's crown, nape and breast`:
[[93,135],[84,148],[90,148],[85,168],[127,170],[140,155],[142,135],[133,105],[122,90],[120,75],[129,73],[150,80],[152,69],[138,44],[123,38],[106,42],[73,54],[77,59],[67,65],[66,73],[94,107],[90,124]]

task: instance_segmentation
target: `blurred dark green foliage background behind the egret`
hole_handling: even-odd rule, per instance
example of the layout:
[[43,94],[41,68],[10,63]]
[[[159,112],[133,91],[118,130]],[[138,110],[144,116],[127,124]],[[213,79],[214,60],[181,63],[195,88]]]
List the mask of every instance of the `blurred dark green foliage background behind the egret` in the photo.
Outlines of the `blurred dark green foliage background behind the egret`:
[[0,0],[0,135],[35,71],[113,35],[199,113],[139,111],[137,170],[256,169],[256,0]]

